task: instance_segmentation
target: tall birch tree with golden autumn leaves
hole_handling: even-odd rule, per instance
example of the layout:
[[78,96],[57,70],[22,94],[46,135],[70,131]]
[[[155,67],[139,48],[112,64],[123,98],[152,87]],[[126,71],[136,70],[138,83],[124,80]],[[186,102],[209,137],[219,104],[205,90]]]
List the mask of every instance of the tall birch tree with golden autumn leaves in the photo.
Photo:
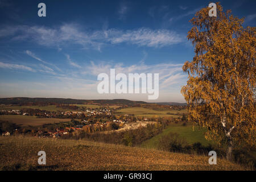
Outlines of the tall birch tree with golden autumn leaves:
[[181,93],[188,104],[188,119],[207,127],[205,138],[227,142],[226,158],[234,144],[255,147],[255,27],[243,28],[243,19],[224,12],[217,16],[208,7],[189,22],[188,40],[195,47]]

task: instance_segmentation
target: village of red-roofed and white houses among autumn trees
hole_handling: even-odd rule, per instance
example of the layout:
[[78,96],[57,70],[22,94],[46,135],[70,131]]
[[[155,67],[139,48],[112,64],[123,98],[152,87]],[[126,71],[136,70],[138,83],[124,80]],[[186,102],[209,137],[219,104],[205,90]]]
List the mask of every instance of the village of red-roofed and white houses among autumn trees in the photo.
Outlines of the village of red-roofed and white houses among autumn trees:
[[[121,117],[113,114],[113,110],[107,108],[86,109],[84,111],[46,111],[39,109],[0,110],[0,115],[35,116],[36,118],[70,118],[70,122],[46,123],[42,127],[20,127],[5,131],[3,136],[16,134],[32,135],[33,137],[68,137],[84,131],[93,133],[96,131],[111,131],[121,129],[125,123],[137,122],[133,115],[124,114]],[[147,118],[143,118],[147,121]]]

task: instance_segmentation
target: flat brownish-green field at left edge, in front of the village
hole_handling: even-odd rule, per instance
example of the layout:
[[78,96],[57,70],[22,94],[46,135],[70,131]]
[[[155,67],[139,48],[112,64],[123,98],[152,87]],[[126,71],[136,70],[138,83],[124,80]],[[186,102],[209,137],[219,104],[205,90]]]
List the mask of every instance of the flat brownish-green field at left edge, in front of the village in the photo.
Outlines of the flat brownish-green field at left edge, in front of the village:
[[23,126],[40,126],[46,123],[68,122],[71,119],[36,118],[30,115],[0,115],[0,121],[9,121]]

